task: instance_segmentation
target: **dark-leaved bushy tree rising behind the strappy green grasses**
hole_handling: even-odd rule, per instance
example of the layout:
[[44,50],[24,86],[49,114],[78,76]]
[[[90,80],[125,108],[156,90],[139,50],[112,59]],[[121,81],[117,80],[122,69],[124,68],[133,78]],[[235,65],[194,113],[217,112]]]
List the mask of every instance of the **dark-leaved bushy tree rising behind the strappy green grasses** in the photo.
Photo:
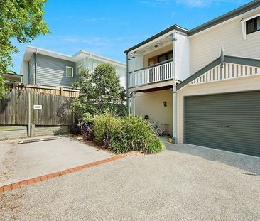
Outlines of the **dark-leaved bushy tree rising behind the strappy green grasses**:
[[90,118],[108,109],[119,115],[126,114],[125,90],[113,65],[99,64],[94,72],[82,69],[73,87],[82,91],[82,95],[72,102],[78,117]]

